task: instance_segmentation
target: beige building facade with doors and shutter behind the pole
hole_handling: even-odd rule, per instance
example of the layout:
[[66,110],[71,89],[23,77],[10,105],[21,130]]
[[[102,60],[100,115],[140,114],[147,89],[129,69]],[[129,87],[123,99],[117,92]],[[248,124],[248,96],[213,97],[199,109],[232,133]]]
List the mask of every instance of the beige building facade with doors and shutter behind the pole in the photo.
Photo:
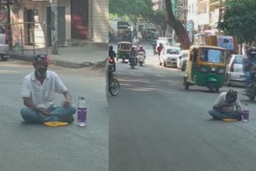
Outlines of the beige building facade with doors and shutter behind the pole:
[[[58,45],[70,39],[108,42],[108,16],[108,0],[58,0]],[[11,11],[14,41],[25,45],[51,46],[51,23],[49,0],[25,0]]]

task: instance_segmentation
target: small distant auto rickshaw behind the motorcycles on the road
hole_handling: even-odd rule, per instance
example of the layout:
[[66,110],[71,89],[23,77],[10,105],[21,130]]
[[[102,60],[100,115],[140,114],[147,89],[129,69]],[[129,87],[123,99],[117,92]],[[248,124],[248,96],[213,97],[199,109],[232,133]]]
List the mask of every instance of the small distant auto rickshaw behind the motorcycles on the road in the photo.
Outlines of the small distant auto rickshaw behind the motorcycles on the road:
[[122,62],[125,62],[126,59],[130,58],[131,42],[118,42],[118,59],[122,59]]

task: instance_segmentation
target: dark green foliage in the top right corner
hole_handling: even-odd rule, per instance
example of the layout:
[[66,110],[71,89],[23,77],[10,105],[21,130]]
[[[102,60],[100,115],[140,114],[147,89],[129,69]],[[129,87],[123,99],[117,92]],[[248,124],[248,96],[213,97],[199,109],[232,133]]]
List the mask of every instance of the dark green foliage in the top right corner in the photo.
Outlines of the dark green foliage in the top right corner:
[[256,38],[256,1],[226,0],[226,10],[220,28],[226,34],[238,36],[239,42],[254,42]]

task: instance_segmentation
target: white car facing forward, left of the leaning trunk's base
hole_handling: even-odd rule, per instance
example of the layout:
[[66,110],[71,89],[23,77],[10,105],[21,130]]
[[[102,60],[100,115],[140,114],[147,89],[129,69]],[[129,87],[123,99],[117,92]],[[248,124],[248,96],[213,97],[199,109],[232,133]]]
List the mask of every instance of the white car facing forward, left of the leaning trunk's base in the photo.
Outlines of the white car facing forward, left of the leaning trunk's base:
[[177,66],[177,59],[180,54],[180,48],[174,46],[166,46],[162,49],[159,64],[160,66]]

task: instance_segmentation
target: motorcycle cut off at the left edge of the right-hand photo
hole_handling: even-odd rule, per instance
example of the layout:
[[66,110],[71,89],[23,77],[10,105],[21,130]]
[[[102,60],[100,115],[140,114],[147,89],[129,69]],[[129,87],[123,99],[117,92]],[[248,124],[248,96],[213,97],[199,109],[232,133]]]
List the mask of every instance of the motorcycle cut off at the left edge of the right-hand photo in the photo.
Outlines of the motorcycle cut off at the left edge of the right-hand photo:
[[120,92],[120,83],[117,78],[114,78],[114,65],[109,65],[109,92],[112,96],[117,96]]

